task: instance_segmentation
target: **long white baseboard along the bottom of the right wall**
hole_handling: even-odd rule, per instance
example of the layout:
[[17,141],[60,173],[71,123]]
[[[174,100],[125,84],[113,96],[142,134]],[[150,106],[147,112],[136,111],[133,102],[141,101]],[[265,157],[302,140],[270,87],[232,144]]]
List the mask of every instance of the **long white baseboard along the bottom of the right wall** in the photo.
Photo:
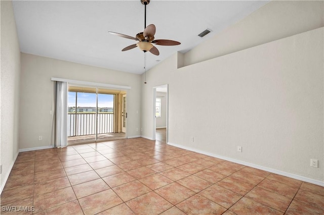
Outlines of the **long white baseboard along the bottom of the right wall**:
[[168,145],[176,146],[178,148],[183,148],[183,149],[186,149],[186,150],[189,150],[189,151],[194,151],[194,152],[197,152],[197,153],[200,153],[200,154],[206,154],[206,155],[209,155],[209,156],[212,156],[212,157],[217,157],[217,158],[227,160],[229,162],[233,162],[233,163],[236,163],[236,164],[244,165],[244,166],[247,166],[247,167],[252,167],[252,168],[255,168],[255,169],[259,169],[259,170],[264,170],[264,171],[267,171],[267,172],[270,172],[270,173],[275,173],[275,174],[278,174],[278,175],[281,175],[281,176],[287,176],[289,178],[297,179],[297,180],[304,181],[304,182],[309,182],[311,184],[316,184],[316,185],[324,187],[324,182],[319,181],[319,180],[307,178],[307,177],[304,177],[304,176],[295,175],[295,174],[292,174],[292,173],[287,173],[287,172],[280,171],[280,170],[271,169],[271,168],[268,168],[268,167],[263,167],[263,166],[251,164],[251,163],[248,163],[248,162],[242,162],[241,160],[221,156],[221,155],[218,155],[218,154],[213,154],[213,153],[206,152],[206,151],[201,151],[201,150],[198,150],[198,149],[195,149],[195,148],[191,148],[191,147],[187,147],[187,146],[183,146],[183,145],[179,145],[179,144],[175,144],[175,143],[171,143],[171,142],[168,142]]

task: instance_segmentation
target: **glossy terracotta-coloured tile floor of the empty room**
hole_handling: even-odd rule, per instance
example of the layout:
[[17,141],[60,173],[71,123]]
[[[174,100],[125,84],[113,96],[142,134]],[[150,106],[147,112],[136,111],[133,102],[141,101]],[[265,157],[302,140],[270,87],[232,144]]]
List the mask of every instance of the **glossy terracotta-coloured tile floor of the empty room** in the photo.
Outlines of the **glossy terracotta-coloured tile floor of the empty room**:
[[18,214],[324,214],[324,187],[134,138],[19,153],[1,206],[2,214],[10,206],[34,208]]

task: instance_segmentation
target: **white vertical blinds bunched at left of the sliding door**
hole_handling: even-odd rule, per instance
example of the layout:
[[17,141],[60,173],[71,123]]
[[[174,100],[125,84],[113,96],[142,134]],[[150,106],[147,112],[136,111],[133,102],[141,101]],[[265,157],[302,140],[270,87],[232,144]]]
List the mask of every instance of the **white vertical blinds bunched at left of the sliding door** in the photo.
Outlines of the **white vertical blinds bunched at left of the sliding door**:
[[67,82],[56,82],[55,147],[67,146]]

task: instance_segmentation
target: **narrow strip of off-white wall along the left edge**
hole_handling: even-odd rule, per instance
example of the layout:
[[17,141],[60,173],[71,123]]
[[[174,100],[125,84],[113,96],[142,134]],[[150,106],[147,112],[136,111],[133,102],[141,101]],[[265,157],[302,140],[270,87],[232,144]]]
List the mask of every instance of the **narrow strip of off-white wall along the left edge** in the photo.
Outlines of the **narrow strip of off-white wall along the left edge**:
[[1,1],[1,191],[18,154],[20,49],[11,1]]

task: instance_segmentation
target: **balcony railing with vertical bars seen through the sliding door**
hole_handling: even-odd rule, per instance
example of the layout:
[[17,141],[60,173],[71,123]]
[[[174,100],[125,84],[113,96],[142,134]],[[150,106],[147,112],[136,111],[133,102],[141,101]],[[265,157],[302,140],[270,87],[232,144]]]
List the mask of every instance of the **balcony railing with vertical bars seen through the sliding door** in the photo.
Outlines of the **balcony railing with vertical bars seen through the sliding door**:
[[[98,114],[98,134],[113,133],[113,114]],[[68,114],[67,136],[96,134],[96,114]]]

